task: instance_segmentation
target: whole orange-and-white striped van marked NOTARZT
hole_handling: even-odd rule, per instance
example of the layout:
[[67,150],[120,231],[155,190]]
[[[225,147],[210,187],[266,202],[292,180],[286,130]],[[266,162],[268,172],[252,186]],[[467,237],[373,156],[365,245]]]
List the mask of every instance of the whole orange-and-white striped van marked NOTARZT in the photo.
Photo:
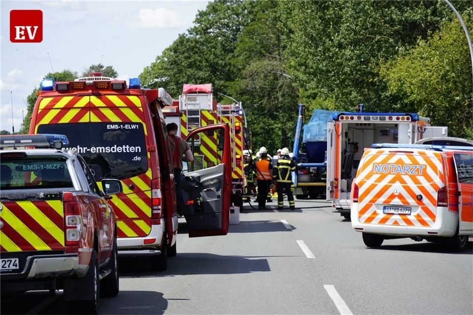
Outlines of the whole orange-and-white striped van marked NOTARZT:
[[365,245],[410,237],[465,250],[473,235],[472,148],[373,147],[365,149],[351,193],[352,227]]

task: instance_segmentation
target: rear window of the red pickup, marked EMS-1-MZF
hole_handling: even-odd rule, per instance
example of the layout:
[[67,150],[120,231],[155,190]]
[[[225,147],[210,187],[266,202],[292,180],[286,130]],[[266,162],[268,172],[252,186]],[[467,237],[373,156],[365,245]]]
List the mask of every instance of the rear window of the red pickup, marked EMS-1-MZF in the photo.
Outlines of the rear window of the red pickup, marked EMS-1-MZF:
[[48,189],[72,188],[66,158],[25,157],[6,159],[0,163],[0,188]]

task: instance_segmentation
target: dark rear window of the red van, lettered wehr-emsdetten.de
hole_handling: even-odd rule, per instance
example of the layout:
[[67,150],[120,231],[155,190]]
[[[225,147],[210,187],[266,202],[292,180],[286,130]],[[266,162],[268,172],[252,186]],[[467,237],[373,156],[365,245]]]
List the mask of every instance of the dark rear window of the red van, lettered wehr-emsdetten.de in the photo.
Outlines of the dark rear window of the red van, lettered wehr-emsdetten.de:
[[141,123],[77,123],[38,126],[37,133],[66,134],[71,149],[89,164],[95,179],[125,179],[148,170]]

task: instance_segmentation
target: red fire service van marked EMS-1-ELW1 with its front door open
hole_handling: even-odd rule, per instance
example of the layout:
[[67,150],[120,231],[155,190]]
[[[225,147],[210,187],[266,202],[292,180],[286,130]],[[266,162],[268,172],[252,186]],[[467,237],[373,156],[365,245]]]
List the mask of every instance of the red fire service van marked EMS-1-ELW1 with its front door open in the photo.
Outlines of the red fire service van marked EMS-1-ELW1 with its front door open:
[[[151,256],[151,267],[167,268],[176,254],[177,200],[162,108],[172,104],[164,89],[145,90],[138,79],[125,81],[100,73],[71,82],[43,81],[34,106],[31,133],[66,134],[95,172],[115,178],[123,192],[108,202],[117,216],[119,255]],[[189,236],[225,235],[228,231],[230,136],[226,125],[193,130],[188,141],[201,156],[202,140],[215,138],[212,163],[192,164],[181,179],[181,213]],[[213,141],[213,140],[212,140]]]

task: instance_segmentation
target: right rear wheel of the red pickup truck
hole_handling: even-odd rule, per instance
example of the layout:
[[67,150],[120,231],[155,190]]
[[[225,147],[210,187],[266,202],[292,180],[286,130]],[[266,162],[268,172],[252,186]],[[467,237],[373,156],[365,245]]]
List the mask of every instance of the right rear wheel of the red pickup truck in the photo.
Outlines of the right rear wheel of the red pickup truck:
[[69,314],[99,314],[100,300],[100,280],[99,280],[99,259],[97,252],[92,253],[93,268],[84,277],[90,279],[88,289],[94,292],[94,298],[91,300],[68,301]]

